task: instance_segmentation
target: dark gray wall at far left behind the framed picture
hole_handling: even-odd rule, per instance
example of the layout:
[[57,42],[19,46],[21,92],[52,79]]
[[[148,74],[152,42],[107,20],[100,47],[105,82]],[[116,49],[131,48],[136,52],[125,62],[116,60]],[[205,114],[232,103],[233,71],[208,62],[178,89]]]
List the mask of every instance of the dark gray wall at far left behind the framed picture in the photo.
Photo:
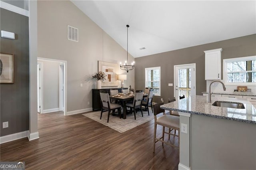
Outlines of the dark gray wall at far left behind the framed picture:
[[[0,136],[4,136],[29,129],[29,40],[28,17],[2,8],[0,14],[0,29],[16,36],[0,38],[1,53],[14,54],[14,83],[0,84]],[[3,129],[6,121],[9,127]]]

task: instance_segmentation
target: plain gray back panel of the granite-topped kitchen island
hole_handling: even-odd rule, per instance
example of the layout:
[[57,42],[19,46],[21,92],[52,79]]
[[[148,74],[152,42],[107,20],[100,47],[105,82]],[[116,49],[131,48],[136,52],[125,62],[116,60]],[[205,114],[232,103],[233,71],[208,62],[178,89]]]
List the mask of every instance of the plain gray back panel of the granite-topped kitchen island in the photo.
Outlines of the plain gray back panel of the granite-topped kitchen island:
[[256,169],[256,126],[191,115],[192,169]]

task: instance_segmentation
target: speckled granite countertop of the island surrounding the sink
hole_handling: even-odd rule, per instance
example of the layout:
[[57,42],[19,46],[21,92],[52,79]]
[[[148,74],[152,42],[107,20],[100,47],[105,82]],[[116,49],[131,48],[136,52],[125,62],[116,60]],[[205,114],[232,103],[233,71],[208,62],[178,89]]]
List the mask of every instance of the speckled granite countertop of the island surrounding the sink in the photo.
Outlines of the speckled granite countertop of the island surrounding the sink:
[[[233,109],[227,107],[212,106],[214,101],[240,102],[244,104],[245,109]],[[169,111],[180,111],[196,115],[205,115],[220,119],[230,119],[246,123],[256,124],[256,109],[246,99],[212,97],[212,102],[208,103],[207,96],[196,95],[179,101],[174,101],[160,106]]]

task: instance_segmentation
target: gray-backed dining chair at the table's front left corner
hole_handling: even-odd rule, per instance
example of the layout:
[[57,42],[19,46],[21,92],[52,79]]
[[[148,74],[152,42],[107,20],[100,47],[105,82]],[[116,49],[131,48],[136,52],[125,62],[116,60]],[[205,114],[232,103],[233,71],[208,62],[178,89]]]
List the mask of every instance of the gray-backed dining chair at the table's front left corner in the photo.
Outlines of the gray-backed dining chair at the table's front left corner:
[[116,113],[115,112],[116,109],[118,109],[118,115],[121,119],[121,105],[110,102],[108,91],[100,91],[100,103],[101,103],[100,119],[102,118],[102,113],[105,111],[108,111],[108,121],[109,121],[110,112],[113,111],[112,114],[114,114]]

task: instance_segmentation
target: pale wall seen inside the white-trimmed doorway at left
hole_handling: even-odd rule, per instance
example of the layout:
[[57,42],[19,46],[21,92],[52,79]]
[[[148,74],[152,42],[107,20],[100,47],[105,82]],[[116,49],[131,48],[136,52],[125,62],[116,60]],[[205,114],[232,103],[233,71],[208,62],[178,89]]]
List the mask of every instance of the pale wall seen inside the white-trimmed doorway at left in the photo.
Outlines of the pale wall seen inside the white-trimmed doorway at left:
[[54,61],[43,61],[43,109],[59,108],[59,63]]

